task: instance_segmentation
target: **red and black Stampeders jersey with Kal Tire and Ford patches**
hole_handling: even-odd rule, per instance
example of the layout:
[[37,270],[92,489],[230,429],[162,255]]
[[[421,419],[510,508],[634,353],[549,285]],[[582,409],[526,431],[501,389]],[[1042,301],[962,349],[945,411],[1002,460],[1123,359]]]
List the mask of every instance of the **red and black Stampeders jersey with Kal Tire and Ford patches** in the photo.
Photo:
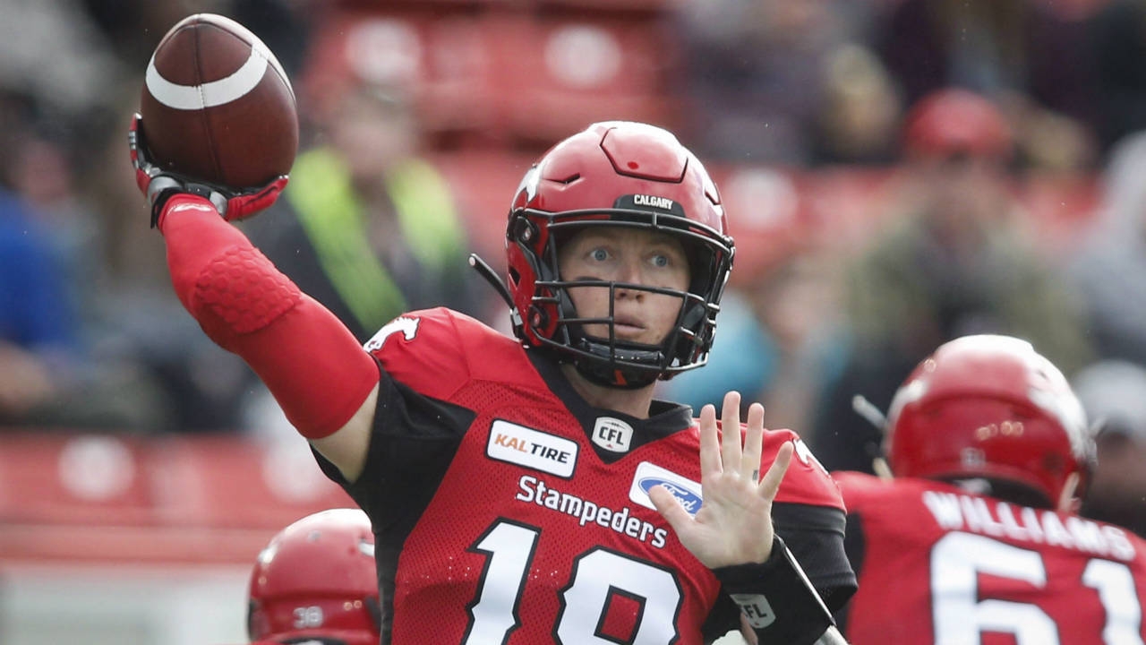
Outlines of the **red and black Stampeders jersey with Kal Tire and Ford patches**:
[[[699,644],[738,608],[676,539],[649,489],[702,504],[691,410],[590,407],[551,359],[447,309],[383,327],[366,468],[382,642],[394,645]],[[769,432],[762,468],[788,430]],[[801,449],[774,522],[829,606],[855,589],[839,490]]]

